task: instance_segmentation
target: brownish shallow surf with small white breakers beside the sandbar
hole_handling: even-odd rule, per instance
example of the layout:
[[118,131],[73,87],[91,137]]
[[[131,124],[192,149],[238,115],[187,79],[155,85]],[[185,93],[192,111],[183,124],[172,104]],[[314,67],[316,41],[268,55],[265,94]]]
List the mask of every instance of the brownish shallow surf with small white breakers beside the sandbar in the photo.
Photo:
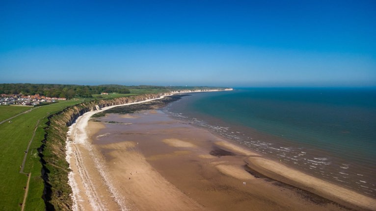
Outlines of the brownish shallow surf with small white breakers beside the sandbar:
[[[184,114],[179,113],[174,116],[184,116]],[[337,181],[337,183],[341,184],[351,184],[349,185],[351,189],[360,189],[361,184],[367,183],[364,180],[369,180],[369,173],[364,173],[363,176],[357,165],[351,165],[349,161],[338,159],[327,152],[316,151],[314,148],[306,148],[304,145],[289,146],[287,142],[269,141],[248,133],[248,131],[242,131],[242,129],[238,129],[236,126],[225,127],[224,124],[221,125],[217,122],[211,125],[208,122],[200,121],[200,117],[189,118],[188,116],[184,118],[188,118],[192,124],[210,129],[226,139],[239,141],[246,147],[260,154],[268,155],[276,161],[283,160],[285,164],[296,166],[302,171],[314,172],[318,178],[326,178],[326,180],[333,183]],[[202,122],[201,125],[199,122]],[[350,165],[351,168],[349,168]],[[372,184],[373,181],[371,179],[367,185]]]

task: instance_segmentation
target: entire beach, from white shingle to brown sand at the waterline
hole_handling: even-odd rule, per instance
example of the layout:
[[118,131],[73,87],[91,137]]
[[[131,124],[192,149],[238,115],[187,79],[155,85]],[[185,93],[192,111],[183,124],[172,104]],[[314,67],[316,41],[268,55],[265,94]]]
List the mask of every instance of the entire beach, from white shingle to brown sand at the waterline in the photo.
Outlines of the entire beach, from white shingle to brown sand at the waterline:
[[160,111],[90,119],[93,113],[68,134],[74,210],[376,210],[373,198]]

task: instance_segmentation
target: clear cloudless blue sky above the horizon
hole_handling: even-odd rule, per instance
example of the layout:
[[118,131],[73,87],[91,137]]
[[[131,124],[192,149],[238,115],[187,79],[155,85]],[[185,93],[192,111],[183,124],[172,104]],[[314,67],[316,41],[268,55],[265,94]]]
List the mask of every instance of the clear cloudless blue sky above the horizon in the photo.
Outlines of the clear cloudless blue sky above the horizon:
[[0,0],[0,83],[376,86],[376,0]]

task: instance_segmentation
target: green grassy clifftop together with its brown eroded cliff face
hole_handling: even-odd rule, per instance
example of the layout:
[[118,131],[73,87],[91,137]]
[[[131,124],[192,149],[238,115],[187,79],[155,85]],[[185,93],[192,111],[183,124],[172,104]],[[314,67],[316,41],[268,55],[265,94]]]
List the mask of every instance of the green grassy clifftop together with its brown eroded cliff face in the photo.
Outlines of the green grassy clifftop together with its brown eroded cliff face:
[[138,102],[189,88],[208,89],[137,86],[129,87],[128,94],[92,94],[38,107],[0,106],[0,210],[71,210],[67,125],[95,105]]

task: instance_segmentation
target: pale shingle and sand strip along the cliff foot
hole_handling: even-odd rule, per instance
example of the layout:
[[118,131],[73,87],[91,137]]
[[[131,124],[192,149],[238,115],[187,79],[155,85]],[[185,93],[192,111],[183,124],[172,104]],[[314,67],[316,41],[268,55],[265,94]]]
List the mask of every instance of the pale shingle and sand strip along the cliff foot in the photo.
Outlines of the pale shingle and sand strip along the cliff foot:
[[[119,198],[122,198],[121,196],[118,196],[116,194],[116,189],[111,186],[111,183],[104,184],[103,182],[99,182],[102,180],[102,177],[104,177],[104,166],[101,166],[100,159],[95,160],[92,162],[92,160],[88,157],[97,158],[97,155],[99,153],[95,152],[95,148],[92,147],[92,145],[89,143],[89,133],[86,131],[86,127],[88,124],[88,121],[91,116],[93,116],[96,113],[100,113],[103,111],[106,111],[111,108],[119,107],[119,106],[126,106],[126,105],[134,105],[144,102],[150,102],[153,100],[162,99],[166,96],[170,96],[172,94],[165,94],[162,95],[159,98],[154,99],[147,99],[144,101],[134,102],[134,103],[126,103],[126,104],[120,104],[120,105],[113,105],[113,106],[107,106],[102,109],[93,110],[90,112],[84,113],[82,116],[78,117],[76,119],[76,122],[73,123],[67,132],[67,141],[66,141],[66,161],[69,164],[69,168],[72,170],[68,174],[68,183],[72,188],[72,201],[73,205],[72,208],[75,211],[79,210],[107,210],[105,207],[105,204],[101,203],[101,200],[98,198],[98,194],[96,193],[96,185],[92,183],[93,176],[89,175],[87,170],[85,169],[86,163],[90,163],[92,166],[95,166],[97,169],[91,169],[90,174],[95,174],[95,179],[97,180],[97,183],[102,183],[102,188],[112,189],[112,192],[109,193],[108,191],[104,192],[104,194],[110,194],[110,197],[116,198],[116,196]],[[98,130],[98,129],[97,129]],[[96,133],[97,130],[93,130],[92,133]],[[82,155],[83,154],[83,155]],[[98,175],[99,173],[99,175]],[[100,175],[102,173],[102,175]],[[104,177],[106,178],[106,177]],[[107,181],[109,182],[109,181]],[[107,187],[106,187],[107,186]],[[85,194],[82,194],[84,192]],[[116,199],[117,205],[121,208],[121,210],[128,210],[126,206],[124,205],[123,201],[121,199]],[[108,199],[107,199],[108,200]],[[110,201],[110,200],[109,200]],[[81,202],[81,203],[80,203]],[[116,205],[112,205],[112,207],[119,208]]]

